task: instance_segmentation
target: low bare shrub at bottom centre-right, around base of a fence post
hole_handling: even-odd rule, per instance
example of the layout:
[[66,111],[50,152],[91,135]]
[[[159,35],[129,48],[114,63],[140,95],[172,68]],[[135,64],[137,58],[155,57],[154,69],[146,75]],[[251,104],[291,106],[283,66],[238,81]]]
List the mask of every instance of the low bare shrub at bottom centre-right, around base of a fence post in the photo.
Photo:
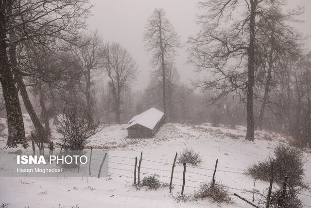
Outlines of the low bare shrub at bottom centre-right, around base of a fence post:
[[214,188],[212,188],[212,183],[204,183],[200,185],[200,189],[194,192],[195,199],[205,199],[208,198],[212,202],[220,205],[221,203],[233,203],[233,199],[230,196],[229,189],[222,183],[216,182]]

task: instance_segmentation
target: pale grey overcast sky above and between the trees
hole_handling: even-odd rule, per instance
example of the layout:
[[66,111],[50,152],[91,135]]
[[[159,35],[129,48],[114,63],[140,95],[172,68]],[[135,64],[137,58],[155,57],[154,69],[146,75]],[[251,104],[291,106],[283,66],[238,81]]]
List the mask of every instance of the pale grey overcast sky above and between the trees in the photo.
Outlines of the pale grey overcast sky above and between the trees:
[[[181,42],[185,43],[190,35],[195,35],[199,26],[195,24],[195,15],[199,12],[196,4],[199,0],[91,0],[93,16],[87,20],[90,30],[97,29],[104,41],[119,42],[136,60],[140,73],[134,89],[145,89],[148,85],[150,54],[144,50],[143,33],[147,19],[155,8],[163,8],[167,18],[173,24]],[[303,23],[296,25],[298,31],[311,35],[311,0],[288,0],[288,8],[305,6],[300,17]],[[311,40],[307,47],[311,49]],[[185,48],[178,50],[175,65],[181,82],[189,83],[197,76],[193,67],[186,64]]]

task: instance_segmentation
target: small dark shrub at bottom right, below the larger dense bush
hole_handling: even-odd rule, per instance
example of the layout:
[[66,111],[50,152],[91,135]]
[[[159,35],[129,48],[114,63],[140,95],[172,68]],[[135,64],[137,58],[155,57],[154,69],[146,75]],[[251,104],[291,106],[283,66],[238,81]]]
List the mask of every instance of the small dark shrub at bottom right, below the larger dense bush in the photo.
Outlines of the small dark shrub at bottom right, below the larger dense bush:
[[[283,188],[276,189],[271,193],[270,198],[270,207],[272,208],[279,208],[280,207],[280,199],[282,195]],[[283,208],[302,208],[303,203],[301,199],[299,199],[299,189],[295,188],[288,188],[286,189],[284,201],[283,201]]]

